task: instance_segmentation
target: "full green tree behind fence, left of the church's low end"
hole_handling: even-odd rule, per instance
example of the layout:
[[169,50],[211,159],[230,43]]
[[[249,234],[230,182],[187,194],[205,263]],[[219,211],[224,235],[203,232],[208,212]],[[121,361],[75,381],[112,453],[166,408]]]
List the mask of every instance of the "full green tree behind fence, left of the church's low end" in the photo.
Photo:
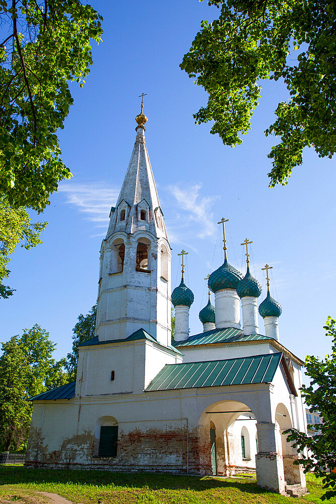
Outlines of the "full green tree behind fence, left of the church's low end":
[[0,357],[0,450],[24,449],[32,403],[29,397],[68,383],[65,359],[55,361],[55,344],[49,333],[35,324],[2,343]]

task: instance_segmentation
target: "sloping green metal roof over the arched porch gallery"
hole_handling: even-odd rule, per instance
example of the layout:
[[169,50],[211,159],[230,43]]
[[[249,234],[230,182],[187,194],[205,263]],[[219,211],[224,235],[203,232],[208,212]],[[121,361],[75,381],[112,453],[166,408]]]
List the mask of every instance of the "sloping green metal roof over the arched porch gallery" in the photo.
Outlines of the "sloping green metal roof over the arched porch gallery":
[[268,353],[236,359],[166,364],[145,392],[271,383],[282,356],[282,353]]

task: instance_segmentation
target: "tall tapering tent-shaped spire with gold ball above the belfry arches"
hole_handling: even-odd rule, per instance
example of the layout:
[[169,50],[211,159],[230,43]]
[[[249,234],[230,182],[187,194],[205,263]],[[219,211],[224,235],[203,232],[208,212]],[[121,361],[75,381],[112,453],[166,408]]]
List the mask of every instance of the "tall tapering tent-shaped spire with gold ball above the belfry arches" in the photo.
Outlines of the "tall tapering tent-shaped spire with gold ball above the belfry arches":
[[116,207],[112,207],[107,237],[116,231],[128,234],[145,230],[168,240],[145,142],[147,117],[143,111],[136,117],[136,121],[138,122],[136,142]]

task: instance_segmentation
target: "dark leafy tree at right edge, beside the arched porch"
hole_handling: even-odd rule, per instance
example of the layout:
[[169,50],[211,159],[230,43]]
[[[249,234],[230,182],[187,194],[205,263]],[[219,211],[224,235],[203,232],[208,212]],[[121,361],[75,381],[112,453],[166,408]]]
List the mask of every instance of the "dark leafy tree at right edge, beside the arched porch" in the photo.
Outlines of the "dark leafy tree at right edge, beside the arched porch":
[[[314,471],[316,477],[323,478],[325,490],[322,500],[336,495],[336,473],[326,473],[324,468],[336,467],[336,321],[328,317],[324,328],[326,336],[332,338],[331,354],[324,359],[313,355],[306,357],[306,374],[310,376],[310,385],[302,386],[302,394],[312,411],[321,414],[323,423],[318,426],[314,436],[305,432],[289,429],[288,441],[301,453],[300,464],[304,472]],[[313,425],[309,426],[314,429]],[[308,457],[303,450],[307,449]]]

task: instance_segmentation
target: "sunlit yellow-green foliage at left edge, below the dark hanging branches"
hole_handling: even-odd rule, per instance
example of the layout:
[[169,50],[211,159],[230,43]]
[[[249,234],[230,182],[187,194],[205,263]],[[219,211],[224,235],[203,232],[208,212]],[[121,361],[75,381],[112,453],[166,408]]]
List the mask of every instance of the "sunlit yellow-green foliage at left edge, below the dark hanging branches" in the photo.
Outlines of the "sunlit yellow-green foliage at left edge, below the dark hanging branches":
[[0,298],[8,298],[15,290],[3,284],[3,280],[10,274],[7,265],[15,247],[20,241],[21,246],[27,250],[42,243],[40,232],[46,225],[47,222],[32,224],[24,208],[14,209],[0,197]]

